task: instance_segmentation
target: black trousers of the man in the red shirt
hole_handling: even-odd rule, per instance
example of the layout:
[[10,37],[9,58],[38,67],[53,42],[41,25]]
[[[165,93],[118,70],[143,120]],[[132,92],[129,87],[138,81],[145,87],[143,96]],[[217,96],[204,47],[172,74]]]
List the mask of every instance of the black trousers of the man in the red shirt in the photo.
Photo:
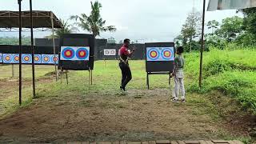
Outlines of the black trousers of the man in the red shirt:
[[119,67],[122,70],[122,87],[126,87],[127,83],[130,82],[131,80],[131,72],[130,72],[130,67],[129,64],[125,64],[123,62],[119,63]]

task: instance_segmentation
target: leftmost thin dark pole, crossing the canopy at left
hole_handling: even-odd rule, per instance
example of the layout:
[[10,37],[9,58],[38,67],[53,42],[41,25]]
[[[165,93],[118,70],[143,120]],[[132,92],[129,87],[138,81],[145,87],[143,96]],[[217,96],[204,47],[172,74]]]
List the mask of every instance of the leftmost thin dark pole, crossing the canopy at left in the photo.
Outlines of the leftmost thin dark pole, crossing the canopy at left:
[[22,0],[18,0],[18,24],[19,24],[19,67],[18,67],[18,80],[19,80],[19,90],[18,90],[18,103],[22,105]]

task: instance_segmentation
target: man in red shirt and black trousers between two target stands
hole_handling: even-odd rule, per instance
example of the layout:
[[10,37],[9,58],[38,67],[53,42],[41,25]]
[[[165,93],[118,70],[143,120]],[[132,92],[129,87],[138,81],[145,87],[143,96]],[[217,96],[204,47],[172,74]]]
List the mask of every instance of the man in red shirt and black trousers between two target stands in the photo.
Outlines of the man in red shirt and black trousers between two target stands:
[[130,46],[130,39],[126,38],[123,42],[122,47],[119,49],[119,56],[120,56],[119,67],[122,70],[122,83],[121,83],[120,89],[124,91],[126,91],[126,85],[128,82],[130,82],[132,78],[128,60],[131,57],[131,55],[134,54],[134,49],[131,50],[131,52],[129,52],[128,51],[129,46]]

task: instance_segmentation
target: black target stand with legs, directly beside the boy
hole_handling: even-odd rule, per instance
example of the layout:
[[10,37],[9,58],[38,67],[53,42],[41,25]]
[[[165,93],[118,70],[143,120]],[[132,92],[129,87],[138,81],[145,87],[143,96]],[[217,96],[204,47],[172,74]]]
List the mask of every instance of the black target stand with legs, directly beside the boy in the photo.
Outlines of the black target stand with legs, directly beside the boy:
[[146,85],[150,89],[150,75],[169,75],[169,85],[174,69],[174,42],[145,43],[146,51]]

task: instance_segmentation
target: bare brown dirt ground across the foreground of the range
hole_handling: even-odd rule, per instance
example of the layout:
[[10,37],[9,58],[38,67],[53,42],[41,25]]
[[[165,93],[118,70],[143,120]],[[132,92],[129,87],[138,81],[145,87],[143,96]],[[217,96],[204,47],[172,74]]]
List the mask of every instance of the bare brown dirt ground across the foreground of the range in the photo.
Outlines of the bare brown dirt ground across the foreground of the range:
[[206,114],[196,114],[194,106],[170,102],[168,93],[133,90],[114,96],[38,98],[0,121],[0,142],[222,137],[222,123]]

